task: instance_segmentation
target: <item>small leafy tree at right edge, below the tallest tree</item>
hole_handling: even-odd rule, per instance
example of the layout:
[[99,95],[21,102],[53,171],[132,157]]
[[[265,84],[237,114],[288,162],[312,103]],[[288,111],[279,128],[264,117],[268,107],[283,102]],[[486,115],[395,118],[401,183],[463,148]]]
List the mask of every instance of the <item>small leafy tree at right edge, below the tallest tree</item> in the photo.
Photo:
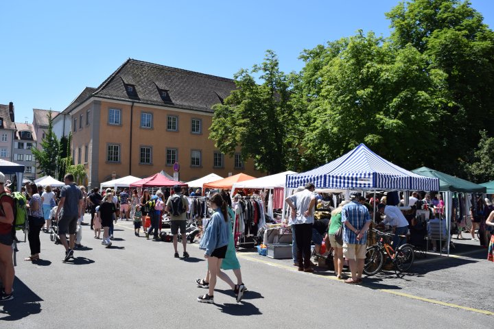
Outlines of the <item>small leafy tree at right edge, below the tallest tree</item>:
[[494,180],[494,137],[480,131],[480,142],[473,154],[473,162],[467,164],[469,178],[475,183],[484,183]]

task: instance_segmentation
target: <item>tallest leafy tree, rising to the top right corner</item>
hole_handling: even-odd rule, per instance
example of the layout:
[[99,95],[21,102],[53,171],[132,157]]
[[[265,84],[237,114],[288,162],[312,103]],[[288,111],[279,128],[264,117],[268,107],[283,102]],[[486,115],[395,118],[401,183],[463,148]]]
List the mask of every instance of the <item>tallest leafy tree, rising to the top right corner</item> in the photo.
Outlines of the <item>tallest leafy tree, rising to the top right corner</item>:
[[414,0],[386,14],[392,40],[401,49],[412,45],[426,58],[426,71],[446,77],[451,106],[436,126],[436,153],[431,165],[462,175],[478,144],[478,131],[494,133],[494,32],[468,1]]

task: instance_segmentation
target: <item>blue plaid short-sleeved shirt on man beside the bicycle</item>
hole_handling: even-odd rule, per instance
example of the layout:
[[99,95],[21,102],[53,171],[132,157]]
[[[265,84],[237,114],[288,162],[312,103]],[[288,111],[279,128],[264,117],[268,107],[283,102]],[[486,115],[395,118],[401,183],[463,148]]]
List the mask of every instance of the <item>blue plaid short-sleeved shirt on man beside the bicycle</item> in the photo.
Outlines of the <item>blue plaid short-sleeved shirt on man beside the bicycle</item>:
[[362,230],[365,223],[371,221],[371,215],[366,206],[358,202],[351,202],[346,204],[342,209],[343,242],[353,245],[366,245],[367,232],[362,236],[362,239],[357,240],[357,234],[344,225],[345,221],[349,221],[355,230]]

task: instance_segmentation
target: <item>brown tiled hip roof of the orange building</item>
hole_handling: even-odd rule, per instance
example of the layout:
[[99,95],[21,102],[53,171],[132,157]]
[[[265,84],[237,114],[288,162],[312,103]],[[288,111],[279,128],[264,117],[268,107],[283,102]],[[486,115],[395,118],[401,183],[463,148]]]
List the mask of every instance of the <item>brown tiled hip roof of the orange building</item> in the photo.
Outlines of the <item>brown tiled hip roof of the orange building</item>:
[[[128,95],[126,84],[135,87],[137,96]],[[91,96],[213,112],[211,107],[235,88],[235,81],[224,77],[129,59],[91,95],[81,97],[86,88],[62,113],[70,112]],[[167,90],[171,102],[163,101],[160,90]]]

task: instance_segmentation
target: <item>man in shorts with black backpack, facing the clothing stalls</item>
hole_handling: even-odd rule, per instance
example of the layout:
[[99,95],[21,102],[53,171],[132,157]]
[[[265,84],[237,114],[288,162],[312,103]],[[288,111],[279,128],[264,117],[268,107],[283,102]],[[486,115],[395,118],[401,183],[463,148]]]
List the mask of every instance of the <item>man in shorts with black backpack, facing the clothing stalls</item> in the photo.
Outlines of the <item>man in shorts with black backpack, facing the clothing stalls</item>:
[[[221,195],[220,195],[221,197]],[[187,252],[187,236],[185,235],[185,224],[187,223],[187,211],[189,211],[189,201],[180,192],[180,186],[174,186],[174,195],[170,195],[167,200],[166,211],[170,213],[170,226],[172,227],[175,258],[179,258],[178,255],[178,229],[180,229],[180,234],[182,234],[182,245],[183,245],[183,257],[189,258],[189,253]]]

